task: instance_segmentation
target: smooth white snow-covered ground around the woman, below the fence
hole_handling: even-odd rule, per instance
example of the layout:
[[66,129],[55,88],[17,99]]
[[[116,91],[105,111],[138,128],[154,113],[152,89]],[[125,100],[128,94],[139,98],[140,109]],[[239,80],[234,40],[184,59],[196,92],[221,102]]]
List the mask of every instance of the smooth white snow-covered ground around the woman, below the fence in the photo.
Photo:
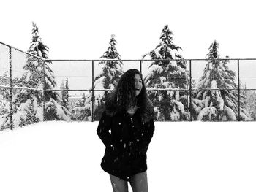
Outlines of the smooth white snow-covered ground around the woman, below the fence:
[[[0,191],[112,191],[98,122],[42,122],[0,132]],[[256,191],[256,123],[159,122],[149,191]],[[130,190],[131,191],[131,190]]]

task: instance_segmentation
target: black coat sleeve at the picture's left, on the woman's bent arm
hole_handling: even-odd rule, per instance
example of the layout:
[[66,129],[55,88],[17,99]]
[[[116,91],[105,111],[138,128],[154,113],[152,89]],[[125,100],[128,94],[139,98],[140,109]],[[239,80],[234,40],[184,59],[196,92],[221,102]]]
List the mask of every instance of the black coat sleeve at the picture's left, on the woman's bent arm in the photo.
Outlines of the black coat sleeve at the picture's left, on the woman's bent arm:
[[110,128],[112,124],[112,117],[106,114],[106,112],[102,112],[102,117],[99,120],[99,125],[97,128],[97,135],[102,140],[106,147],[110,147],[111,145],[111,136],[110,136]]

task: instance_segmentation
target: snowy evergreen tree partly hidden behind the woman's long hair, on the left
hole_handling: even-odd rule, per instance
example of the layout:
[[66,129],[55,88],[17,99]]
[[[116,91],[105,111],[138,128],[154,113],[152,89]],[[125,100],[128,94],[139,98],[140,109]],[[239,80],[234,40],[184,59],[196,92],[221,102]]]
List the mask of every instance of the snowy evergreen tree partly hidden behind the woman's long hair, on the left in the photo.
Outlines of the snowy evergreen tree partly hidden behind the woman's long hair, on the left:
[[[100,61],[102,71],[94,78],[94,89],[105,89],[106,91],[94,91],[94,119],[99,120],[104,110],[105,99],[118,82],[123,71],[123,62],[121,56],[116,50],[116,39],[114,35],[111,36],[108,50],[100,57],[104,61]],[[89,93],[87,103],[91,102],[92,92]]]

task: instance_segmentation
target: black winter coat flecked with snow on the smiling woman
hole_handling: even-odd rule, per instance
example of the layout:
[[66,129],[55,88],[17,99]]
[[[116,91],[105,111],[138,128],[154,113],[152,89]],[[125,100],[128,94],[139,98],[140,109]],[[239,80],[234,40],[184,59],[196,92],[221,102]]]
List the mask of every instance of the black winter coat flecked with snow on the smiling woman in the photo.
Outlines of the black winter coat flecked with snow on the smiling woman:
[[154,133],[154,120],[142,122],[140,109],[133,116],[126,111],[110,116],[104,111],[97,134],[105,145],[101,167],[123,180],[147,170],[146,151]]

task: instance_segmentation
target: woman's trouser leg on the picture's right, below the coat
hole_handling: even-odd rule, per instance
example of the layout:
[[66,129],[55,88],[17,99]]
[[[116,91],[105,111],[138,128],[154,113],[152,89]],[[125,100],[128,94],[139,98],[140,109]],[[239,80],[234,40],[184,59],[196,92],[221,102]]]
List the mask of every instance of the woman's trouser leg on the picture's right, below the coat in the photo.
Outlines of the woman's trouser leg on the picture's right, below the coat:
[[131,177],[131,186],[133,192],[148,192],[147,172],[141,172]]

